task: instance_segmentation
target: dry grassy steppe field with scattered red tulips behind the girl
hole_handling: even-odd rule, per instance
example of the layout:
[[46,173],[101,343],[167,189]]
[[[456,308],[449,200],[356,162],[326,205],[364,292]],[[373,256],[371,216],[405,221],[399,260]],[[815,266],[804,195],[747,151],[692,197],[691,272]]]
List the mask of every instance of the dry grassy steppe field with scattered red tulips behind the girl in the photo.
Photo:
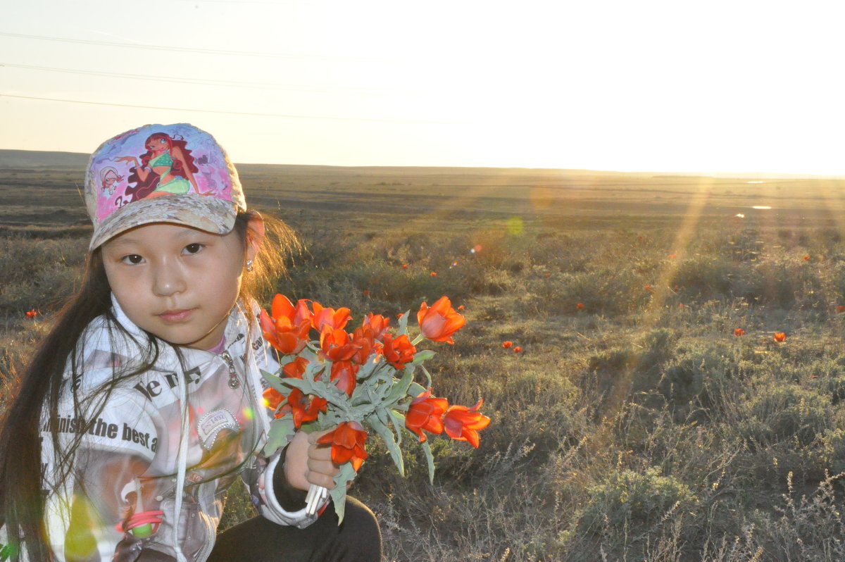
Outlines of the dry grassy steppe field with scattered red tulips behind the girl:
[[[0,384],[79,283],[86,161],[0,151]],[[385,560],[845,560],[845,180],[238,168],[307,247],[279,292],[463,307],[433,385],[493,421],[433,485],[371,438]]]

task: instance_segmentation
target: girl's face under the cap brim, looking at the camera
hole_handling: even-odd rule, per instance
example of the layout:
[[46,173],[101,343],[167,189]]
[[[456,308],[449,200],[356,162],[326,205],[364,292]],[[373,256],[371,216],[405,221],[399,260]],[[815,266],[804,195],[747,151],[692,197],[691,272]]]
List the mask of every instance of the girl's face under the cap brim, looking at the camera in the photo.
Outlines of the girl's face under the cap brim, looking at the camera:
[[[263,231],[262,231],[263,232]],[[234,230],[210,234],[154,223],[103,244],[106,276],[130,320],[162,340],[210,349],[223,337],[241,287],[244,254]]]

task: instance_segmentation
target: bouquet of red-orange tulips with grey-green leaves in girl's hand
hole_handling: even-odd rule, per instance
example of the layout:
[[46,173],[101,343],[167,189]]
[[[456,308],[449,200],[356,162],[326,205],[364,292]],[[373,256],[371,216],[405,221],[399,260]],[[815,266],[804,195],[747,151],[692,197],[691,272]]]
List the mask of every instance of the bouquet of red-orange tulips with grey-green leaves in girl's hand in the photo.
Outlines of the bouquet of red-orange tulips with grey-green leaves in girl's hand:
[[[310,307],[309,307],[310,303]],[[450,406],[445,398],[433,396],[431,375],[423,362],[433,357],[429,350],[417,351],[423,339],[454,343],[452,334],[466,319],[441,297],[431,308],[423,303],[417,312],[420,334],[411,340],[407,321],[401,314],[398,326],[390,330],[389,320],[368,314],[360,327],[346,332],[352,316],[349,308],[325,308],[301,299],[296,305],[284,295],[273,299],[271,314],[261,311],[259,324],[264,338],[281,354],[278,373],[264,372],[270,388],[264,391],[265,405],[274,412],[265,452],[285,445],[298,428],[319,431],[335,428],[319,439],[331,445],[331,458],[340,465],[331,497],[338,518],[343,521],[346,483],[357,475],[364,459],[368,431],[384,440],[396,468],[405,475],[399,448],[407,431],[423,448],[428,461],[428,478],[433,481],[434,461],[423,429],[478,446],[479,429],[490,418],[475,406]],[[318,340],[310,335],[316,332]],[[423,374],[425,385],[414,378]],[[325,488],[308,490],[308,510],[313,513],[326,498]]]

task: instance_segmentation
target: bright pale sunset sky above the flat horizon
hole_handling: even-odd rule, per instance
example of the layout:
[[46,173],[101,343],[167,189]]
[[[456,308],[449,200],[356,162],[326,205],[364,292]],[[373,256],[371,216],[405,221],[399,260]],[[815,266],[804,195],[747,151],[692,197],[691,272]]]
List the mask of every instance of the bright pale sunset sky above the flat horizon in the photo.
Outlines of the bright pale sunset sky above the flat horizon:
[[845,174],[841,2],[0,0],[0,149]]

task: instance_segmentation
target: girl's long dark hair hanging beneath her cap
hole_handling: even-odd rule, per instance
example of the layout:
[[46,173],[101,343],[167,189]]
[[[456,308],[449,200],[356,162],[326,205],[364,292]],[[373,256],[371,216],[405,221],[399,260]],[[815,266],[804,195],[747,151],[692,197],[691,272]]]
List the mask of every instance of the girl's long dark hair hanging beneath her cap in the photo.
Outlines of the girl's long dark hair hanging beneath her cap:
[[[248,224],[255,216],[255,211],[237,216],[235,231],[244,249],[249,237]],[[297,237],[283,222],[264,217],[264,227],[264,244],[254,259],[253,271],[244,276],[241,286],[243,303],[266,297],[278,276],[286,272],[287,261],[301,249]],[[102,317],[109,330],[133,337],[117,323],[111,294],[97,248],[86,262],[79,292],[57,314],[41,347],[23,374],[10,385],[14,391],[0,417],[0,527],[5,524],[9,542],[5,551],[0,552],[0,559],[6,554],[12,560],[19,560],[22,544],[30,560],[54,559],[44,526],[44,493],[54,492],[71,476],[74,453],[85,433],[80,431],[70,445],[60,448],[57,428],[46,424],[50,428],[57,471],[45,474],[41,458],[41,428],[45,427],[45,417],[48,420],[57,417],[60,399],[71,392],[75,417],[96,419],[117,384],[143,373],[158,357],[161,341],[151,334],[147,334],[145,341],[136,339],[139,350],[143,350],[136,363],[140,366],[129,371],[115,368],[112,379],[90,396],[77,396],[73,379],[80,374],[77,366],[85,357],[81,336],[90,322]]]

